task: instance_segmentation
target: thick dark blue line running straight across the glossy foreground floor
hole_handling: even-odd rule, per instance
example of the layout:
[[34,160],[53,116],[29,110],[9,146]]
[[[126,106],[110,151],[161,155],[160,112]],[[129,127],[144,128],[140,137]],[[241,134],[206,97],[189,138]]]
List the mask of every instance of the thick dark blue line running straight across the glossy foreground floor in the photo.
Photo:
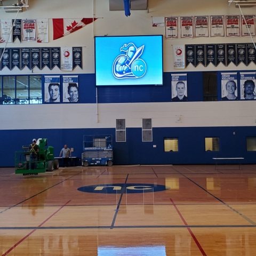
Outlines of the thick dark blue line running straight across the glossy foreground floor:
[[24,229],[114,229],[114,228],[255,228],[256,225],[138,225],[138,226],[66,226],[66,227],[0,227],[0,230]]

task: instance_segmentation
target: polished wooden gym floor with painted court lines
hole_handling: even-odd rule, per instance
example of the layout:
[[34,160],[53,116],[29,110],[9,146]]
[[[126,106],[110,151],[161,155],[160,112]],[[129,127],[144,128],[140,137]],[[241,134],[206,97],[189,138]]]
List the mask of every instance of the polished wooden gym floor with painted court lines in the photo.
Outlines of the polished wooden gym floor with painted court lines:
[[[241,167],[0,169],[0,255],[256,255],[256,165]],[[111,184],[166,190],[77,190]]]

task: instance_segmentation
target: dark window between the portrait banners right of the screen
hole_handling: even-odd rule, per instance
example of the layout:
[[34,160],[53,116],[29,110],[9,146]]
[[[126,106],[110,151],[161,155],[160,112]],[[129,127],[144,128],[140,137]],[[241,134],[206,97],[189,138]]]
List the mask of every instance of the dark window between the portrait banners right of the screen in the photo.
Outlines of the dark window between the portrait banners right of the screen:
[[217,72],[203,72],[204,101],[217,101]]

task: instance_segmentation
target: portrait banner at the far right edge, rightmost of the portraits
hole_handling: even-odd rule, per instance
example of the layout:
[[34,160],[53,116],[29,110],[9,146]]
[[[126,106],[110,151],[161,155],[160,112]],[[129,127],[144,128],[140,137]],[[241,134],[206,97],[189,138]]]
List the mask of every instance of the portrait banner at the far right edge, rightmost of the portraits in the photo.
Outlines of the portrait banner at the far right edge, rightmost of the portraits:
[[240,99],[256,100],[255,72],[240,73]]

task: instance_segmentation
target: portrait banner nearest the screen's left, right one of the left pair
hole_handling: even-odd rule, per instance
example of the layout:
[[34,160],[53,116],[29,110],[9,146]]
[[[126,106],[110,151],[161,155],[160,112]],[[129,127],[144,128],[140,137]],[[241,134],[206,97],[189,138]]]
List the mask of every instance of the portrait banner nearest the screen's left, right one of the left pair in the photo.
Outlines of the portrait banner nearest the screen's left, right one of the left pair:
[[78,102],[78,76],[63,76],[63,102]]

